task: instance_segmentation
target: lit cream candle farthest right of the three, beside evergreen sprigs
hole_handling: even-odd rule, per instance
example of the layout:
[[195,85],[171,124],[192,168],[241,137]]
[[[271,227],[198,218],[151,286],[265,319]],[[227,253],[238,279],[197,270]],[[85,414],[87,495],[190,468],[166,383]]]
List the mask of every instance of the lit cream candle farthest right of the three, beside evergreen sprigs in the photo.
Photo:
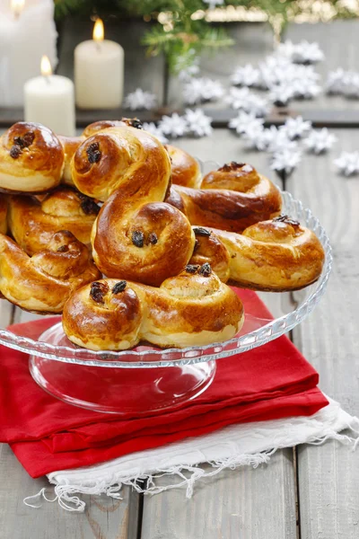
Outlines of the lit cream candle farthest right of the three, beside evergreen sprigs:
[[103,22],[97,19],[92,40],[74,49],[76,105],[81,109],[117,109],[123,98],[124,50],[104,40]]

